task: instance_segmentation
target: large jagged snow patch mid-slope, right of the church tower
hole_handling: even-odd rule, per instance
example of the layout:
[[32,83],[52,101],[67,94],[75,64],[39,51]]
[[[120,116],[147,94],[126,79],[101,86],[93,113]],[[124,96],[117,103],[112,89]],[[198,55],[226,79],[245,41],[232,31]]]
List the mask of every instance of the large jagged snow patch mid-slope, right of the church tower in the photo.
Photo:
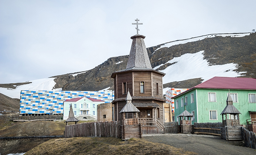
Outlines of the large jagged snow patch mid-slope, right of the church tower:
[[[225,76],[225,77],[237,77],[241,76],[242,73],[246,72],[235,72],[237,69],[236,63],[228,63],[224,65],[211,65],[204,58],[204,51],[200,51],[194,54],[184,54],[180,57],[173,58],[166,63],[174,63],[168,66],[160,72],[166,73],[163,77],[163,83],[169,83],[174,81],[183,81],[187,79],[202,78],[204,81],[214,76]],[[161,64],[154,69],[163,66]],[[203,81],[203,82],[204,82]]]

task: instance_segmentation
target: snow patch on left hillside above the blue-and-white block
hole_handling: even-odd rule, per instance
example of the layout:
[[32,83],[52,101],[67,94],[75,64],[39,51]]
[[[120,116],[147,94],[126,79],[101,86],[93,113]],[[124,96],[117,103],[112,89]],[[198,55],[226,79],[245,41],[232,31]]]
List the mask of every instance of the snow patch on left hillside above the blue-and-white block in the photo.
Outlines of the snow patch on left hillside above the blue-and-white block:
[[20,91],[21,90],[56,90],[61,91],[62,88],[55,89],[56,82],[54,82],[54,79],[56,77],[50,77],[45,79],[39,79],[39,80],[32,80],[28,82],[32,82],[26,85],[17,86],[15,89],[12,88],[2,88],[0,87],[0,93],[9,96],[11,98],[20,99]]

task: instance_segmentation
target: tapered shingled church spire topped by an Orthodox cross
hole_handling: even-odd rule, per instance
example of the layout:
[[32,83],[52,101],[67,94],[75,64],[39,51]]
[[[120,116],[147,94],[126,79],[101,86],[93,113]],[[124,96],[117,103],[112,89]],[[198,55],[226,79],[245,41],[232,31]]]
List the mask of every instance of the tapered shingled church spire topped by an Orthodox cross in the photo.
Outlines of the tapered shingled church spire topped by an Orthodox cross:
[[137,24],[137,34],[132,36],[132,46],[129,54],[129,59],[128,63],[126,66],[126,69],[130,68],[149,68],[152,69],[150,59],[148,57],[148,52],[147,48],[144,42],[145,36],[138,34],[138,21],[140,20],[135,20],[137,23],[132,23],[132,24]]

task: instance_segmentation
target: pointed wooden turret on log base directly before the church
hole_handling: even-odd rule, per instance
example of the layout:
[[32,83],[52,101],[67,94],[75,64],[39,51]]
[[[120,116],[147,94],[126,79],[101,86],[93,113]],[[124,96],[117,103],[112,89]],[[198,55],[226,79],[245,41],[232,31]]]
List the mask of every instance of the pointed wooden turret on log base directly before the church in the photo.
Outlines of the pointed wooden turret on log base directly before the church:
[[122,114],[122,125],[121,125],[121,137],[122,140],[128,140],[130,138],[141,138],[142,127],[139,124],[138,113],[140,110],[132,104],[132,97],[127,92],[126,104],[120,111]]

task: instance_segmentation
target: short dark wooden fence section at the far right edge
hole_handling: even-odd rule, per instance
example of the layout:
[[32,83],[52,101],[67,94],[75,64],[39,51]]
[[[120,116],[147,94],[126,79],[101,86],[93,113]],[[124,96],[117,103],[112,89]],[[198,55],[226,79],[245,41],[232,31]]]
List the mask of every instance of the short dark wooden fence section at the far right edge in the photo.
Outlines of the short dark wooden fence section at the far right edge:
[[256,134],[242,127],[244,146],[256,149]]

